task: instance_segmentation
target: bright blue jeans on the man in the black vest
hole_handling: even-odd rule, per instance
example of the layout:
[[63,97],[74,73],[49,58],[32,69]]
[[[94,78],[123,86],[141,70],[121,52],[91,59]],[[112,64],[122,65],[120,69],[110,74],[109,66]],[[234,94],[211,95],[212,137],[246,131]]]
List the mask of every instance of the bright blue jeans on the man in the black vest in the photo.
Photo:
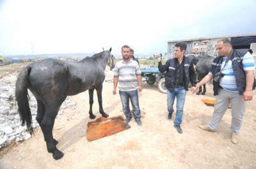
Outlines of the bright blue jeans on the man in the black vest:
[[185,103],[185,97],[186,97],[187,91],[183,86],[181,87],[174,87],[172,91],[170,92],[167,90],[167,109],[170,114],[173,113],[173,103],[175,100],[175,97],[177,97],[177,103],[176,103],[176,118],[174,120],[174,125],[180,125],[182,122],[182,115],[183,115],[183,107]]

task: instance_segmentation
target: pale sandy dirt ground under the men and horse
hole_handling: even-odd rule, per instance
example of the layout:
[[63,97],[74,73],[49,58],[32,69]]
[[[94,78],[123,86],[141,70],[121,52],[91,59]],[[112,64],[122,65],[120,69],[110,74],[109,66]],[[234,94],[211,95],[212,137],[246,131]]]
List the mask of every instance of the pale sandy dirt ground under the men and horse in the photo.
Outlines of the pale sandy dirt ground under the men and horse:
[[[111,79],[107,76],[106,79]],[[0,159],[0,168],[256,168],[256,95],[247,102],[240,133],[240,142],[230,141],[231,116],[228,110],[218,131],[203,131],[199,124],[210,121],[213,107],[200,100],[214,99],[211,85],[205,96],[187,93],[182,129],[179,134],[173,119],[167,119],[166,94],[157,85],[143,83],[139,93],[142,127],[134,120],[130,129],[87,141],[89,119],[88,92],[72,98],[77,102],[55,120],[54,137],[64,157],[54,160],[46,150],[43,135],[37,129],[34,136],[11,148]],[[112,82],[103,83],[103,108],[110,117],[123,115],[119,95],[112,95]],[[95,96],[94,113],[100,117]],[[174,114],[175,116],[175,114]]]

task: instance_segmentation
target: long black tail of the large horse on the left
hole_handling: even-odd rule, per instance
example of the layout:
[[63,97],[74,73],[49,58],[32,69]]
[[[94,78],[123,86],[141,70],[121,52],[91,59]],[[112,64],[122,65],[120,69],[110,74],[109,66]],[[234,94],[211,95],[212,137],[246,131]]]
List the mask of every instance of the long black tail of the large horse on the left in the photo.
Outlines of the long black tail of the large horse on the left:
[[18,103],[18,112],[20,116],[21,125],[24,126],[25,122],[27,129],[30,134],[33,133],[32,115],[29,108],[29,96],[28,96],[28,86],[30,84],[29,74],[31,67],[27,66],[23,69],[17,78],[15,97]]

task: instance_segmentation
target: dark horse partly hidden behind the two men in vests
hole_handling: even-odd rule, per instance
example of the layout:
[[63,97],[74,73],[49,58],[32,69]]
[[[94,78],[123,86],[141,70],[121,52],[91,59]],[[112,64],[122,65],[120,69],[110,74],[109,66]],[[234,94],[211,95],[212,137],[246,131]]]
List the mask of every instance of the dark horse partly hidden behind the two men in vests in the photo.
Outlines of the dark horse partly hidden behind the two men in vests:
[[[210,55],[206,55],[206,56],[189,56],[192,57],[193,61],[192,63],[195,65],[195,70],[196,70],[196,76],[197,76],[197,81],[201,81],[204,76],[206,76],[212,67],[212,62],[214,60],[214,57],[210,56]],[[204,89],[202,92],[202,87],[200,86],[199,91],[196,93],[196,95],[205,95],[206,93],[206,86],[205,84],[203,85]]]

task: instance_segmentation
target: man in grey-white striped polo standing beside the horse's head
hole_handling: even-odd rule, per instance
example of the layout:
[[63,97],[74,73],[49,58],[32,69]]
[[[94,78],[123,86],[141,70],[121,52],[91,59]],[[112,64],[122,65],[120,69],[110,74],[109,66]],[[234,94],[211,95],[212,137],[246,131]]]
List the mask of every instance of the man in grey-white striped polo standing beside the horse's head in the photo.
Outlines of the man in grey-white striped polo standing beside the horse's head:
[[123,113],[126,116],[124,122],[129,123],[132,119],[129,107],[129,100],[131,100],[134,119],[138,126],[141,126],[141,110],[138,103],[138,92],[142,91],[142,76],[138,63],[130,58],[130,50],[131,48],[127,45],[122,47],[123,59],[117,62],[113,69],[113,94],[117,94],[117,85],[119,82],[119,95],[122,101]]

